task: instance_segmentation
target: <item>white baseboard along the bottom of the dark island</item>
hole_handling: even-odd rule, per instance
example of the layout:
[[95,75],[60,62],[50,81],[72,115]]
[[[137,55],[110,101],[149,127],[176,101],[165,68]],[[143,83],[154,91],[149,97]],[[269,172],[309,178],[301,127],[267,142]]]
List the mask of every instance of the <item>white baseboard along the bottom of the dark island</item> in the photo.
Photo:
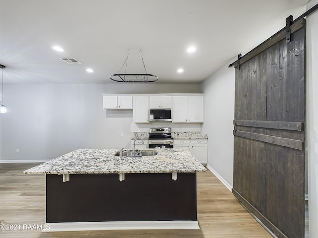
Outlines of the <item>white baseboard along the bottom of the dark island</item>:
[[198,221],[138,221],[138,222],[66,222],[46,223],[42,232],[102,231],[102,230],[198,230]]

